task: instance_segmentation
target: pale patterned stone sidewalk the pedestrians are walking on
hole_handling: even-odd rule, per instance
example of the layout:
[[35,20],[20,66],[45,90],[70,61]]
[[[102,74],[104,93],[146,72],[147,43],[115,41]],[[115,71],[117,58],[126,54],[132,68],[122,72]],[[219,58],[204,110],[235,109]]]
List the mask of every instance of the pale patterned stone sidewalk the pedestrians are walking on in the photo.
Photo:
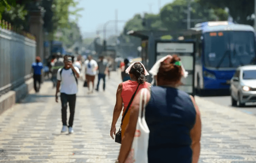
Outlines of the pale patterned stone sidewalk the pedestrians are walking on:
[[[119,82],[113,72],[106,92],[90,95],[79,82],[73,134],[60,133],[60,103],[45,82],[40,93],[0,115],[0,163],[113,163],[120,145],[109,130]],[[203,124],[199,162],[256,163],[255,116],[201,97],[196,102]]]

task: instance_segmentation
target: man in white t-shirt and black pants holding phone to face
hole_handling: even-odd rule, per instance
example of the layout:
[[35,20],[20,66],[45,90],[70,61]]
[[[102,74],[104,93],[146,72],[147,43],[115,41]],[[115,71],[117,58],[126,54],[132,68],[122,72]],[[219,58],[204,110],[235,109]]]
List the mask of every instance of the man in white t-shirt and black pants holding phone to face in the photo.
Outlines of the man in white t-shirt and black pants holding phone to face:
[[[64,57],[64,67],[57,72],[57,86],[56,86],[56,102],[58,102],[58,92],[60,92],[61,100],[61,115],[63,127],[61,132],[73,133],[73,121],[75,114],[75,101],[78,91],[77,78],[79,78],[80,71],[77,67],[72,65],[71,57]],[[60,89],[61,86],[61,89]],[[70,118],[67,127],[67,103],[70,107]]]

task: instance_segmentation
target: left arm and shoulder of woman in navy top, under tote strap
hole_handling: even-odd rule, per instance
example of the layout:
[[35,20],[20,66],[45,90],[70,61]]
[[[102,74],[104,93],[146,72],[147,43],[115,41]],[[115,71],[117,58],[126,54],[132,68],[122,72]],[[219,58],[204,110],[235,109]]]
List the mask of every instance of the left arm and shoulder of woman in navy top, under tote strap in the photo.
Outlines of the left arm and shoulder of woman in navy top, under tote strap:
[[[138,92],[138,94],[135,96],[132,107],[131,107],[129,123],[128,123],[127,129],[125,130],[124,137],[122,138],[122,144],[121,144],[120,153],[118,156],[118,160],[120,163],[125,162],[132,147],[132,142],[134,140],[134,134],[135,134],[136,125],[137,125],[138,116],[139,116],[139,101],[140,101],[142,90],[143,89],[141,89]],[[148,89],[146,89],[146,91],[147,91],[146,103],[148,103],[150,100],[150,92]],[[142,105],[144,104],[144,102],[145,101],[143,100]]]

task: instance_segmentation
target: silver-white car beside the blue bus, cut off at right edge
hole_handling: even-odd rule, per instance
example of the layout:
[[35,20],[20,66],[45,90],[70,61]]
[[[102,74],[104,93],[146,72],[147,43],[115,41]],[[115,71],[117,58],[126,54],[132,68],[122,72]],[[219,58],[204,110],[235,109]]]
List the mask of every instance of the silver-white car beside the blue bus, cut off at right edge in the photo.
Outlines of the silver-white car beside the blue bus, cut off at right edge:
[[256,65],[238,67],[230,81],[232,106],[256,102]]

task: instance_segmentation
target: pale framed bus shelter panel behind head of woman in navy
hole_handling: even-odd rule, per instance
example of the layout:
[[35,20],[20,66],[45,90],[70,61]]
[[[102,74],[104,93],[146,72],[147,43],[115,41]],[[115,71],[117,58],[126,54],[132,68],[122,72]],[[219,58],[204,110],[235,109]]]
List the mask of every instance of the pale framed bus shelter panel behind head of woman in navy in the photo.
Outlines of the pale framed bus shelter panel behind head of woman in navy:
[[188,72],[188,77],[182,78],[183,85],[178,89],[194,96],[195,87],[195,42],[193,41],[156,41],[156,61],[166,55],[178,55]]

